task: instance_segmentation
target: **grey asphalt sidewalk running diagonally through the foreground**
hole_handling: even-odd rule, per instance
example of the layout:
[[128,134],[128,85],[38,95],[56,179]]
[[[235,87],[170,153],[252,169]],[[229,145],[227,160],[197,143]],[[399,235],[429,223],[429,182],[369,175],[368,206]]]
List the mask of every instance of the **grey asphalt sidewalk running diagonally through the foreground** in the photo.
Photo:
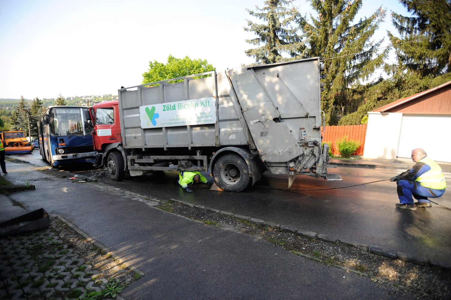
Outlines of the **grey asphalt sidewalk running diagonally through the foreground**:
[[[124,299],[414,299],[266,240],[158,210],[152,199],[121,190],[105,193],[97,184],[73,183],[33,168],[7,162],[8,180],[36,185],[9,198],[28,211],[43,207],[51,216],[62,215],[143,271],[146,275],[122,292]],[[0,219],[5,214],[17,216],[3,210]]]

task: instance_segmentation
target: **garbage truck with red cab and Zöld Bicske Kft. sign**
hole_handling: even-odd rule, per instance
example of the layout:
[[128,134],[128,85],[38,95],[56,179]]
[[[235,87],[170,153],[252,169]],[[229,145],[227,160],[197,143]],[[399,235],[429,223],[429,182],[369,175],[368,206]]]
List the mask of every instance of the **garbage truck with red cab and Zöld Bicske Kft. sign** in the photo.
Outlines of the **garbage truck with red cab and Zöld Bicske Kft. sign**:
[[328,178],[322,145],[320,58],[206,72],[121,87],[97,103],[95,166],[113,180],[151,171],[210,172],[219,188],[240,192],[262,172]]

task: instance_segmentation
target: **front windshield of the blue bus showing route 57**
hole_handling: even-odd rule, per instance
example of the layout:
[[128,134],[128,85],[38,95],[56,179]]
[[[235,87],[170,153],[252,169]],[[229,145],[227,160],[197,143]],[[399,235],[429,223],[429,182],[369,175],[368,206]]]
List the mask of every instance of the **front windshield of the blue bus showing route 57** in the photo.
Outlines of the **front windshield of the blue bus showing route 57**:
[[[83,135],[83,120],[80,108],[54,108],[50,114],[51,134]],[[90,134],[92,130],[86,132]]]

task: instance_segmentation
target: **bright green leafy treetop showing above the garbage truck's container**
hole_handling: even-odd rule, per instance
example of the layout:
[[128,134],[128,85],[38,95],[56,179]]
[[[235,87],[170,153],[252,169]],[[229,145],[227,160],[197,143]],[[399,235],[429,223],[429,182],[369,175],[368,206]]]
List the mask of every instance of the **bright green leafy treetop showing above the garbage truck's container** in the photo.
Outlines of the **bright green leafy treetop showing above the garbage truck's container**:
[[[166,64],[159,63],[156,60],[149,62],[149,70],[143,73],[143,84],[167,80],[171,78],[189,76],[193,74],[200,74],[205,72],[216,71],[206,59],[191,59],[188,56],[184,58],[175,58],[172,55],[168,56]],[[207,77],[208,75],[199,76],[196,78]],[[172,82],[179,82],[183,80],[176,80]]]

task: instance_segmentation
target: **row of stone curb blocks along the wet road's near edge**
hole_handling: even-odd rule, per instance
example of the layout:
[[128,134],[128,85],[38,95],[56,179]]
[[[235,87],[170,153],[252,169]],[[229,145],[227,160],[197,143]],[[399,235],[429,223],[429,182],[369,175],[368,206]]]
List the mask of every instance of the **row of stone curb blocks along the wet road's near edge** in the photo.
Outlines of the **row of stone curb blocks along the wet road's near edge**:
[[[190,204],[190,203],[187,203],[184,201],[180,201],[177,199],[170,199],[170,201],[179,202],[181,204],[188,205],[190,207],[197,207],[193,204]],[[197,207],[197,208],[200,208],[200,207]],[[263,221],[261,219],[255,219],[255,218],[247,217],[247,216],[243,216],[243,215],[236,215],[231,212],[216,210],[216,209],[210,208],[210,207],[207,207],[207,208],[203,207],[201,209],[209,210],[214,213],[221,214],[221,215],[228,215],[230,217],[234,217],[237,219],[249,220],[250,222],[252,222],[254,224],[264,225],[264,226],[268,226],[268,227],[275,228],[275,229],[280,229],[282,231],[294,233],[294,234],[302,236],[302,237],[308,237],[308,238],[317,239],[317,240],[321,240],[324,242],[330,242],[330,243],[334,243],[334,244],[340,243],[343,245],[352,246],[352,247],[360,249],[364,252],[368,252],[368,253],[375,254],[375,255],[382,255],[385,257],[389,257],[391,259],[403,260],[403,261],[407,261],[412,264],[418,264],[418,265],[429,265],[430,267],[435,268],[435,269],[451,270],[451,264],[448,264],[447,262],[441,261],[441,260],[428,259],[428,258],[421,257],[419,255],[408,254],[408,253],[404,253],[401,251],[393,251],[393,250],[386,249],[386,248],[379,247],[379,246],[368,246],[367,244],[364,244],[361,242],[349,241],[345,238],[331,237],[331,236],[328,236],[327,234],[323,234],[323,233],[316,233],[316,232],[308,231],[308,230],[304,230],[304,229],[297,229],[297,228],[287,226],[287,225],[280,225],[280,224],[273,223],[273,222]],[[293,252],[295,252],[295,251],[293,251]],[[298,254],[297,252],[295,252],[295,253]],[[299,253],[299,255],[302,255],[304,257],[307,257],[307,258],[310,258],[313,260],[318,260],[316,257],[304,255],[302,253]],[[321,260],[318,260],[318,261],[321,261]],[[343,268],[340,266],[337,266],[337,267]],[[361,272],[354,271],[351,269],[349,269],[349,270],[352,272],[361,273]],[[361,273],[361,274],[363,274],[363,273]],[[382,280],[380,280],[380,281],[382,281]]]

